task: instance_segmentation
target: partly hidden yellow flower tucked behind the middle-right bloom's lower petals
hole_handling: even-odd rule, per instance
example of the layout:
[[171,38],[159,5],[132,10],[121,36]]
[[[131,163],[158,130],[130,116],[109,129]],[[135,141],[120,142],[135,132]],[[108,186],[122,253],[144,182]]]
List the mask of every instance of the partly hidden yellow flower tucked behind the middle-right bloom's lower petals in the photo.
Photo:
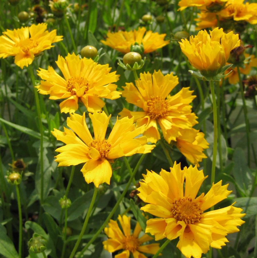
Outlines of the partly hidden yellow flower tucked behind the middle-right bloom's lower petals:
[[207,158],[203,153],[209,143],[204,139],[204,133],[194,128],[181,129],[180,136],[176,138],[176,146],[186,159],[199,167],[199,162]]

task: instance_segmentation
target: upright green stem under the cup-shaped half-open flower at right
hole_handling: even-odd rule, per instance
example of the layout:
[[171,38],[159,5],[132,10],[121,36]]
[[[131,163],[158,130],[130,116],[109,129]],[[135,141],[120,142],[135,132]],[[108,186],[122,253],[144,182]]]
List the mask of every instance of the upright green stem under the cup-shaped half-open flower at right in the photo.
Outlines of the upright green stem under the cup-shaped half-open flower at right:
[[[211,184],[215,181],[215,168],[216,168],[216,156],[217,156],[217,138],[218,138],[218,122],[217,122],[217,105],[214,92],[214,83],[210,81],[210,88],[212,94],[212,107],[213,107],[213,149],[212,149],[212,172],[211,172]],[[212,207],[214,209],[214,207]]]

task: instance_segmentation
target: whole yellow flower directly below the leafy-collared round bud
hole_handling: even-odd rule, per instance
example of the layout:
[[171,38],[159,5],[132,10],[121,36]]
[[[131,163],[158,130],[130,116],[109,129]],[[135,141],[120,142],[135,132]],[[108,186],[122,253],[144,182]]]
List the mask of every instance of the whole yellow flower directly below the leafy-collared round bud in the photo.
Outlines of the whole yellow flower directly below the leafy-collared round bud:
[[169,93],[178,84],[178,77],[173,74],[163,75],[161,71],[153,74],[141,73],[135,81],[136,86],[126,83],[122,96],[128,103],[140,107],[142,111],[123,109],[121,117],[134,117],[137,126],[146,124],[148,141],[156,143],[160,139],[157,124],[162,129],[165,140],[176,141],[180,129],[191,128],[197,123],[196,115],[191,113],[190,103],[195,98],[188,88],[182,88],[174,96]]

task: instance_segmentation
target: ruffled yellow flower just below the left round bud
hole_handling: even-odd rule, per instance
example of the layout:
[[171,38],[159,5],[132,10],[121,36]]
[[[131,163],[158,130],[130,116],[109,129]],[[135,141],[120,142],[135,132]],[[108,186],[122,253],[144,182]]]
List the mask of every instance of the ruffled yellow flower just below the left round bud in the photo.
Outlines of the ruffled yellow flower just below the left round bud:
[[57,66],[63,73],[61,77],[53,67],[48,70],[39,68],[38,76],[41,84],[37,86],[39,93],[50,94],[49,99],[66,99],[60,103],[61,112],[74,113],[78,109],[78,101],[82,101],[91,113],[99,111],[105,105],[100,98],[118,99],[116,91],[119,75],[111,72],[108,64],[101,65],[92,59],[68,54],[65,59],[58,56]]

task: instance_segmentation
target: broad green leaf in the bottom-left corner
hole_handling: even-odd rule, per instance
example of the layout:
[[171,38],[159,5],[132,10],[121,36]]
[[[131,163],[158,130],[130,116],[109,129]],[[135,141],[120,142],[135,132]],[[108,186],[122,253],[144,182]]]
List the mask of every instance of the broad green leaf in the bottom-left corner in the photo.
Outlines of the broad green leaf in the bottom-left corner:
[[19,257],[13,242],[6,234],[6,229],[0,224],[0,254],[6,258]]

